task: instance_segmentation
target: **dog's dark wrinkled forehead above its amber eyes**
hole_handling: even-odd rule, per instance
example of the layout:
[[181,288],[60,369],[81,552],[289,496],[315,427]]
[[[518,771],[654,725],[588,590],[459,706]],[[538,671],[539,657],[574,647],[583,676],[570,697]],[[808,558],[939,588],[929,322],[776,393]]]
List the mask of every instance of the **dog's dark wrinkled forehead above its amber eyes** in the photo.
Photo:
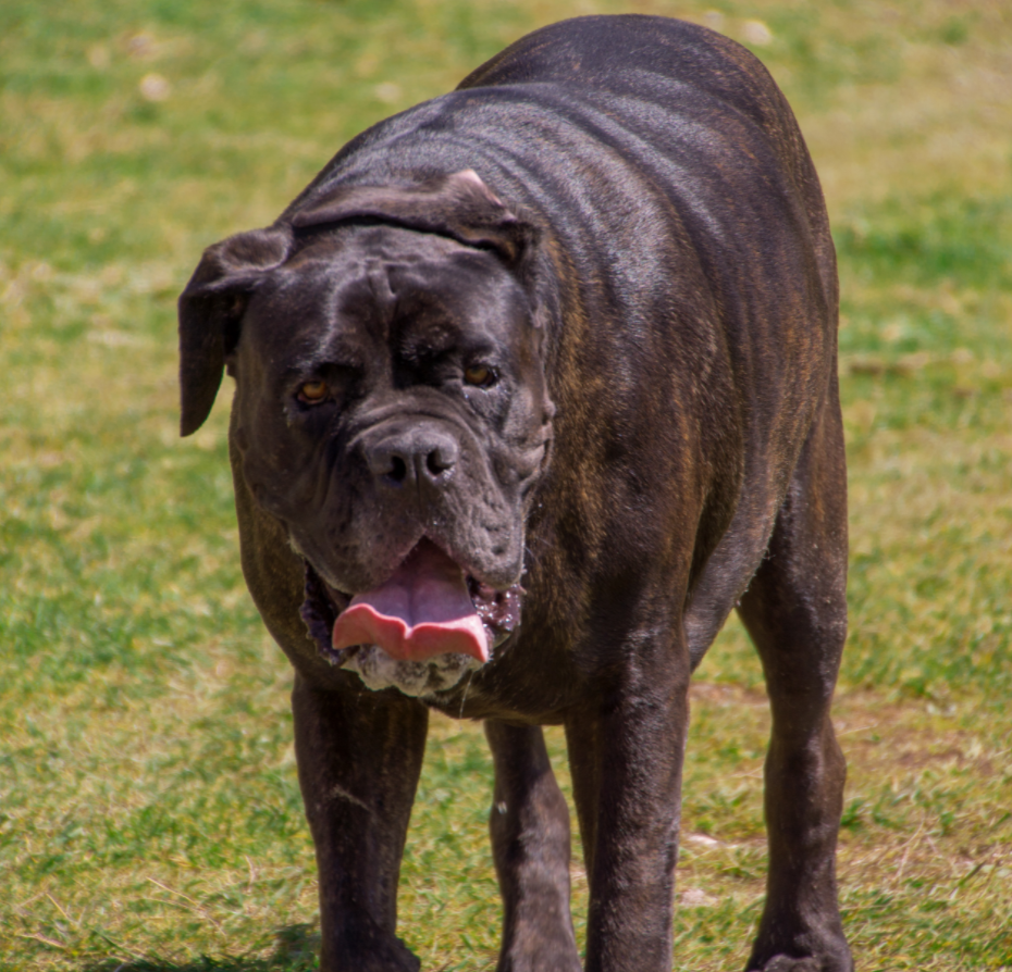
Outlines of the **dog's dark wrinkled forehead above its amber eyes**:
[[271,272],[247,312],[249,336],[261,346],[454,340],[465,333],[513,344],[528,319],[522,287],[493,253],[394,227],[314,241]]

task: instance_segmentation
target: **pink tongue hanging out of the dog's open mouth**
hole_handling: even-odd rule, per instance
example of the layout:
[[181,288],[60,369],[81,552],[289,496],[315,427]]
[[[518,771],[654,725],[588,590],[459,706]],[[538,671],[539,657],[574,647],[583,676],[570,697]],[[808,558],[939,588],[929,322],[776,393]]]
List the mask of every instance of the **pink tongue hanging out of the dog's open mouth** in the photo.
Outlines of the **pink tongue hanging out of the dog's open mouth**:
[[464,571],[429,540],[385,584],[351,598],[334,622],[332,640],[338,651],[379,645],[397,661],[425,661],[444,652],[489,660],[485,630]]

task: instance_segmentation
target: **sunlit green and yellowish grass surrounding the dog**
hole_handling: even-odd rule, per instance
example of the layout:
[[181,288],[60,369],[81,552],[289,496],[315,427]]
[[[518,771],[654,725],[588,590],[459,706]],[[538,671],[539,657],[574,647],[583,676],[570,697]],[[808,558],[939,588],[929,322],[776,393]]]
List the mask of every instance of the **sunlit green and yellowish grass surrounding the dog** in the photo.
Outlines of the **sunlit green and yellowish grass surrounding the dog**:
[[[227,403],[177,438],[174,298],[203,246],[273,220],[370,122],[541,23],[619,9],[0,8],[0,969],[314,968],[289,675],[238,570]],[[1012,18],[942,0],[622,9],[750,42],[830,205],[857,965],[1012,969]],[[744,960],[767,726],[731,624],[693,688],[679,970]],[[494,965],[490,776],[480,728],[436,720],[400,906],[427,969]],[[582,935],[579,859],[573,887]]]

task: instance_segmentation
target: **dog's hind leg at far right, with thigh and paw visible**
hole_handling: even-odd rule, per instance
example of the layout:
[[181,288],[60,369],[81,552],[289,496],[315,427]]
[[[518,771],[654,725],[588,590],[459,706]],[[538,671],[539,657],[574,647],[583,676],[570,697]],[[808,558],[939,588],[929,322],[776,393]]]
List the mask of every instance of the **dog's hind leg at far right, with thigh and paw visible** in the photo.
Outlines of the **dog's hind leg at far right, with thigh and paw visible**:
[[749,970],[849,972],[836,844],[846,764],[829,720],[847,635],[847,476],[834,376],[739,614],[773,709],[766,906]]

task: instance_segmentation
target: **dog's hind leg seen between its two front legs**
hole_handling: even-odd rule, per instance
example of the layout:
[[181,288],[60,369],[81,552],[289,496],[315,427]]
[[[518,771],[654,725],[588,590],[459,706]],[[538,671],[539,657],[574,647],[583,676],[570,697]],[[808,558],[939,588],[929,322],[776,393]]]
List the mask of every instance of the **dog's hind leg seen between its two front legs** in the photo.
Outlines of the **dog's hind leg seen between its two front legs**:
[[503,895],[497,972],[579,972],[569,912],[569,809],[538,726],[490,720],[495,760],[489,828]]

